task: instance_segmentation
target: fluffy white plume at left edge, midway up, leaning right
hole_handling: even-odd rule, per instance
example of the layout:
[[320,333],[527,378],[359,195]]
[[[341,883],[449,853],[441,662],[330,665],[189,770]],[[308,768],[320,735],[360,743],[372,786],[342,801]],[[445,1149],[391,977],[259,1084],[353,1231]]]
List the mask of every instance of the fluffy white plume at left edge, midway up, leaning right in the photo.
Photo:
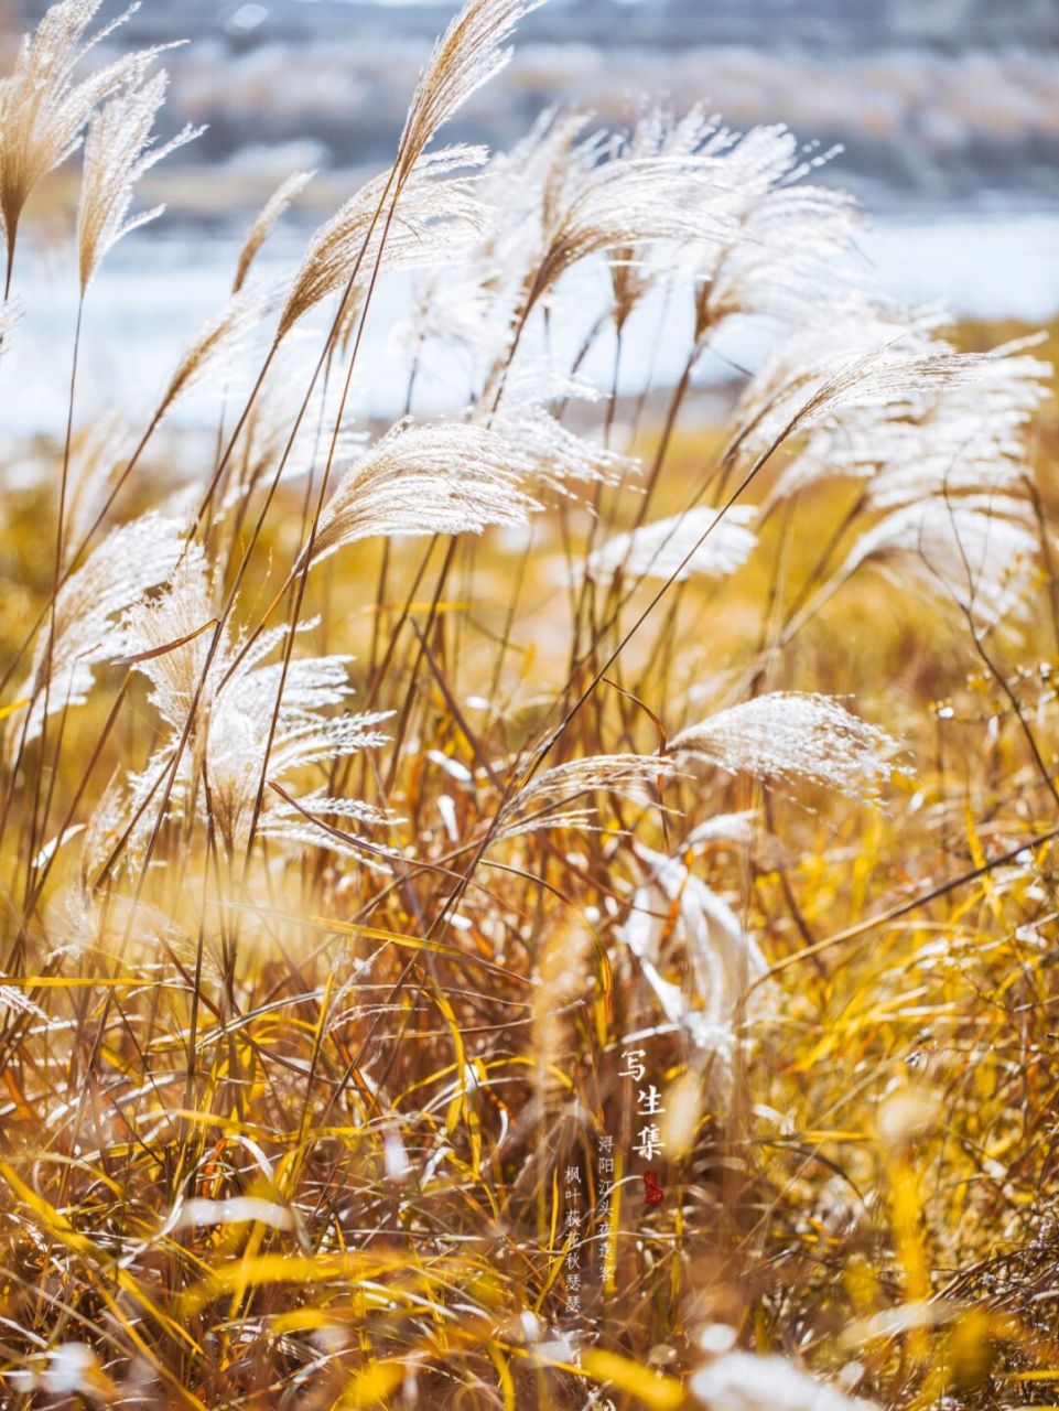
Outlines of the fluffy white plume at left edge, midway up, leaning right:
[[[18,693],[32,697],[27,739],[41,731],[45,694],[49,715],[66,706],[83,706],[93,684],[92,667],[121,656],[127,636],[117,619],[166,581],[185,546],[183,532],[180,521],[151,511],[111,529],[62,584],[55,600],[54,638],[48,632],[38,638],[30,677]],[[48,656],[51,679],[45,683]],[[21,727],[16,738],[20,735]]]

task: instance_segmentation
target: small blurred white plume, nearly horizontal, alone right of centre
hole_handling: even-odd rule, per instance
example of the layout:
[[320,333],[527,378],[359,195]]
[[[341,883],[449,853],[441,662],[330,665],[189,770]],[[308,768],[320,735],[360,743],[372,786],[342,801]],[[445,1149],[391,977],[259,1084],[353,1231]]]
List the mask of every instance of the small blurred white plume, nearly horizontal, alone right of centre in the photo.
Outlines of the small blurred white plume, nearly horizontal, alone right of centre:
[[656,519],[629,533],[613,535],[594,549],[585,570],[598,583],[616,573],[630,579],[673,579],[677,583],[695,573],[711,579],[726,577],[747,560],[757,545],[756,535],[747,529],[756,515],[752,505],[732,505],[723,514],[699,507],[671,519]]

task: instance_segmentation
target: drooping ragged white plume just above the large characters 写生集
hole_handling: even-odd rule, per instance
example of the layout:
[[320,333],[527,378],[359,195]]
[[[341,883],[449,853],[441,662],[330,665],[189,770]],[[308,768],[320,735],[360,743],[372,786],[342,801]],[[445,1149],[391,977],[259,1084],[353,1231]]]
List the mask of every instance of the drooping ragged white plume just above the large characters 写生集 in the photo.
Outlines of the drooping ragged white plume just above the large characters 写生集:
[[[752,982],[764,976],[764,957],[728,903],[678,858],[640,844],[633,851],[646,880],[633,893],[619,937],[639,961],[666,1019],[711,1055],[711,1078],[723,1101],[732,1088],[743,996]],[[681,952],[675,959],[674,950]],[[684,968],[684,957],[692,995],[663,974]]]

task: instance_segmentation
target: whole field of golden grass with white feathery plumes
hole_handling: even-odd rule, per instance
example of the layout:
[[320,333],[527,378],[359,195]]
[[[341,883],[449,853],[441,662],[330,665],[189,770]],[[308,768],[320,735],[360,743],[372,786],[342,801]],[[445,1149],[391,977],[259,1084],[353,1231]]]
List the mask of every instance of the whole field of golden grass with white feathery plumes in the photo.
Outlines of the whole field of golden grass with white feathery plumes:
[[[289,281],[300,175],[158,404],[85,418],[195,138],[97,8],[0,89],[8,402],[80,174],[68,423],[0,518],[1,1404],[1053,1404],[1059,330],[884,301],[780,128],[444,148],[526,8],[468,0]],[[691,310],[678,387],[549,356],[592,262],[615,385]]]

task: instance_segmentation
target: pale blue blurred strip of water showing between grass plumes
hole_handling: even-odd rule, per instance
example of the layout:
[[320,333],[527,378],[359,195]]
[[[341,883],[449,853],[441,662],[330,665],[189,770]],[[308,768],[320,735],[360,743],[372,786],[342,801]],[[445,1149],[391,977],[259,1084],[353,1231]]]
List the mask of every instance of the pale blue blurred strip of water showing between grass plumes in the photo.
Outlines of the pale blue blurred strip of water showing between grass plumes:
[[[90,419],[120,402],[133,423],[149,415],[166,377],[195,333],[226,303],[240,237],[200,233],[159,238],[145,233],[118,247],[89,295],[78,387],[78,419]],[[956,315],[1046,320],[1059,312],[1059,213],[887,219],[862,241],[879,285],[905,303],[941,303]],[[302,253],[290,233],[265,247],[259,275],[289,277]],[[72,262],[44,255],[27,241],[20,251],[16,293],[23,317],[0,360],[0,435],[59,435],[65,425],[69,357],[76,312]],[[360,415],[392,415],[405,398],[402,363],[391,349],[393,326],[409,313],[409,284],[384,281],[372,308],[354,394]],[[573,360],[584,333],[605,303],[598,272],[585,272],[571,306],[581,322],[553,329],[558,363]],[[660,317],[666,334],[659,339]],[[306,377],[320,339],[305,330]],[[651,378],[674,381],[687,354],[681,310],[649,303],[629,330],[620,389],[637,392]],[[532,351],[532,349],[529,350]],[[732,363],[752,349],[729,340]],[[609,387],[612,347],[602,340],[584,365],[601,388]],[[729,377],[722,360],[704,367],[704,380]],[[439,360],[417,382],[416,411],[440,412],[467,395],[458,364]],[[185,425],[216,425],[216,401],[192,395],[179,409]]]

